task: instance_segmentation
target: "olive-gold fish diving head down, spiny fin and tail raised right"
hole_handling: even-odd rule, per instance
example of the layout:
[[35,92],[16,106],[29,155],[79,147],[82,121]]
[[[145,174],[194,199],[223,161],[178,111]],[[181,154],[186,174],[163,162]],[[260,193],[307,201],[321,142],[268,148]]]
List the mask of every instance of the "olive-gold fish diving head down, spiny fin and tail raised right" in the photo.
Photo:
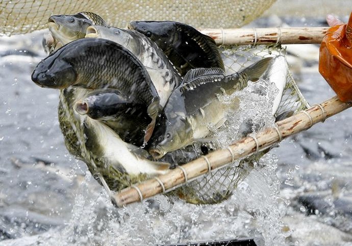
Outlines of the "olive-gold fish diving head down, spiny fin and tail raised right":
[[195,141],[209,141],[209,125],[222,126],[228,110],[237,110],[238,99],[229,104],[219,95],[232,94],[257,81],[273,58],[264,58],[233,75],[225,76],[221,68],[197,68],[188,71],[184,84],[175,89],[157,120],[149,141],[149,153],[160,159],[166,153],[181,149]]

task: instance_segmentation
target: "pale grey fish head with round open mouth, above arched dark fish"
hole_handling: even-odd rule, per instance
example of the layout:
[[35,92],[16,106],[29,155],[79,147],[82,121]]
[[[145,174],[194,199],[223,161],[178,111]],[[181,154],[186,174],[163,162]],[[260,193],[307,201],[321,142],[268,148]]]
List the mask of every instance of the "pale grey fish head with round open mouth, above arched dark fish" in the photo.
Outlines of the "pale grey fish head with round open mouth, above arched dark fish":
[[128,47],[132,36],[122,29],[115,27],[102,27],[97,25],[92,25],[87,28],[86,38],[104,38],[112,40],[123,47]]

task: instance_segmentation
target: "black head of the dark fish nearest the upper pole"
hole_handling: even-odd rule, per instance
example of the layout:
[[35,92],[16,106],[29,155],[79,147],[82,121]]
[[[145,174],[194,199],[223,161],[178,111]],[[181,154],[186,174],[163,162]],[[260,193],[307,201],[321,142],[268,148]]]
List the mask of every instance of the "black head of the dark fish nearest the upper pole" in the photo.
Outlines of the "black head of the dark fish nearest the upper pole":
[[[144,34],[158,44],[163,46],[165,39],[169,38],[169,33],[173,29],[173,25],[169,21],[132,21],[129,29]],[[160,47],[163,49],[163,47]]]

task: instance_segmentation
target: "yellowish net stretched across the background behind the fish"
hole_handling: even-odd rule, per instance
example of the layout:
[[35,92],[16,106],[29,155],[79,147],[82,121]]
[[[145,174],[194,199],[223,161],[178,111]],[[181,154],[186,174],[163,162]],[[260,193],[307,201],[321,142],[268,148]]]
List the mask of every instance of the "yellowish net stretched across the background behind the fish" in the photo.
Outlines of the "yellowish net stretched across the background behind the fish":
[[0,2],[0,34],[29,33],[47,28],[55,14],[94,12],[115,27],[134,20],[174,20],[195,28],[236,28],[260,16],[275,0],[223,1],[4,1]]

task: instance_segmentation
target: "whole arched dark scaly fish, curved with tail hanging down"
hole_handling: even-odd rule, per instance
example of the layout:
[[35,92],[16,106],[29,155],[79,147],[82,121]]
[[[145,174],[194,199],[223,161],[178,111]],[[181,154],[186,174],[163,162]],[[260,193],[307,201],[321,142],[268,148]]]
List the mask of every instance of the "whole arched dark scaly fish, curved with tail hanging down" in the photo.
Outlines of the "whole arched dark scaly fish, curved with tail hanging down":
[[32,73],[41,87],[64,89],[118,89],[129,100],[145,104],[151,121],[144,142],[152,136],[160,98],[143,64],[123,46],[102,38],[84,38],[65,44],[43,59]]

